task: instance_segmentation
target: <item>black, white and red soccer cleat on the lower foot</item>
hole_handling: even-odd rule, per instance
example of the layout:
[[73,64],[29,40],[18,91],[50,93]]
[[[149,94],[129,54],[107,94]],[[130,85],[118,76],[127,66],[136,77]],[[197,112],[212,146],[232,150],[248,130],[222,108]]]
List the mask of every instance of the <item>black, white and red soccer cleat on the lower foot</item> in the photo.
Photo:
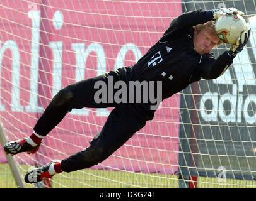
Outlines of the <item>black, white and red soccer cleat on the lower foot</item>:
[[50,165],[52,165],[53,163],[61,163],[61,161],[59,160],[53,160],[50,161],[50,163],[47,163],[46,165],[40,167],[40,168],[35,168],[33,170],[28,171],[28,173],[26,173],[24,180],[26,183],[37,183],[40,182],[42,180],[45,180],[47,178],[51,178],[54,175],[50,175],[49,174],[49,168]]

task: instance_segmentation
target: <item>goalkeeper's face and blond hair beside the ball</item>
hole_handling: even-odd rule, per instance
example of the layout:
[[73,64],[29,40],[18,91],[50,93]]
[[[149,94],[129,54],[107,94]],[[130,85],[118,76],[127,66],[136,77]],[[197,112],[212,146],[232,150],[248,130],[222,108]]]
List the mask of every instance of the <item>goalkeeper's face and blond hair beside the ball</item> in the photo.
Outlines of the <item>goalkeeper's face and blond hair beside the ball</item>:
[[212,48],[219,43],[219,38],[217,35],[212,35],[211,31],[205,28],[199,32],[194,32],[193,42],[195,51],[204,55],[212,51]]

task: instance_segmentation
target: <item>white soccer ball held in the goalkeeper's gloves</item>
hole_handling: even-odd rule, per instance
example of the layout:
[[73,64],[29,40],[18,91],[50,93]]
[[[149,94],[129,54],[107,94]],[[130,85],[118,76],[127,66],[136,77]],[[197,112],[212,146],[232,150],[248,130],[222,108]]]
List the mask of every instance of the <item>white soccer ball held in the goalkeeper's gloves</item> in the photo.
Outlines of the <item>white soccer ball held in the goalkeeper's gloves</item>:
[[215,31],[224,43],[235,44],[245,30],[247,23],[239,14],[221,16],[215,23]]

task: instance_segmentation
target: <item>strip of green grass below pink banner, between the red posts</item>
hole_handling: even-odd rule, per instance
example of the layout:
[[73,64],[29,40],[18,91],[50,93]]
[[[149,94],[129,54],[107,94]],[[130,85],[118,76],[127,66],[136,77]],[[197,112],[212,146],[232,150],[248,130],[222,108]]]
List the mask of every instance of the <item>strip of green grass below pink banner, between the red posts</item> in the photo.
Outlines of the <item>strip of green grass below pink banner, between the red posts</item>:
[[[80,179],[78,179],[80,178]],[[67,185],[67,181],[69,184]],[[64,185],[63,185],[64,183]],[[83,170],[54,176],[54,188],[177,188],[173,175]]]

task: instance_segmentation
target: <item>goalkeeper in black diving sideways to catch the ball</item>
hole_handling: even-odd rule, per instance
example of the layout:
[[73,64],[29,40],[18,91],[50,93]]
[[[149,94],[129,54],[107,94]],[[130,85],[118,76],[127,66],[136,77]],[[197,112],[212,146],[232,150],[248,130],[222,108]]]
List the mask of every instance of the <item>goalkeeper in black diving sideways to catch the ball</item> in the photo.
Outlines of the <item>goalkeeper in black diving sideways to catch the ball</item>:
[[231,66],[236,55],[243,50],[250,37],[248,28],[241,33],[235,45],[231,45],[230,49],[218,58],[214,57],[212,48],[222,43],[214,30],[214,22],[219,17],[230,14],[243,15],[243,12],[235,8],[221,8],[183,13],[172,20],[160,40],[133,66],[121,67],[61,89],[38,119],[31,136],[4,144],[3,148],[7,154],[38,151],[42,139],[72,109],[114,108],[100,133],[90,141],[88,148],[61,161],[52,160],[44,166],[28,171],[25,182],[36,183],[62,171],[71,172],[97,165],[119,149],[136,131],[142,129],[147,121],[153,119],[156,109],[151,109],[149,103],[96,102],[96,82],[108,85],[110,77],[114,83],[161,81],[161,100],[164,100],[193,82],[216,79],[222,75]]

